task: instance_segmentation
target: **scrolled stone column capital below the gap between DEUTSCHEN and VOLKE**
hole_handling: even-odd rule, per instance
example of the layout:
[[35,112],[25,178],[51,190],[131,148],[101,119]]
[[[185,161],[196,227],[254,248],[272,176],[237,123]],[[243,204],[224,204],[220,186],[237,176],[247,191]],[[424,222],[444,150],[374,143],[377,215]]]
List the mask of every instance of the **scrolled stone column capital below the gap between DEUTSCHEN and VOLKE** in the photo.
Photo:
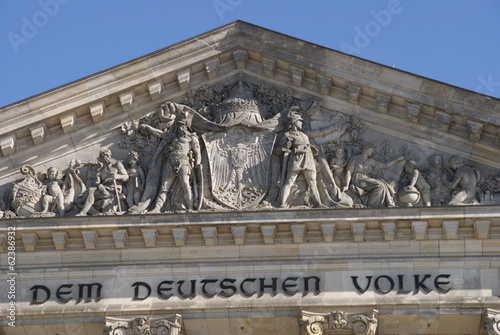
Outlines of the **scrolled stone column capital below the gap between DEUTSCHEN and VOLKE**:
[[370,314],[355,314],[342,311],[331,313],[300,313],[302,335],[355,334],[375,335],[378,326],[378,311]]

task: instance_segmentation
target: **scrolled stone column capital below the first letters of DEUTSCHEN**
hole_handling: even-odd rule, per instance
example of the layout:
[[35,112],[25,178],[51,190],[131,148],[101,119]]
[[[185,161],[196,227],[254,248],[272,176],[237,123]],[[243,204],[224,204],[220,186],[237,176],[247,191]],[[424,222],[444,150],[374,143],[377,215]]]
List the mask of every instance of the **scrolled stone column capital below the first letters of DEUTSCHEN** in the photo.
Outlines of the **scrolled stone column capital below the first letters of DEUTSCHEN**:
[[105,321],[104,335],[179,335],[182,333],[180,314],[136,318],[106,317]]

